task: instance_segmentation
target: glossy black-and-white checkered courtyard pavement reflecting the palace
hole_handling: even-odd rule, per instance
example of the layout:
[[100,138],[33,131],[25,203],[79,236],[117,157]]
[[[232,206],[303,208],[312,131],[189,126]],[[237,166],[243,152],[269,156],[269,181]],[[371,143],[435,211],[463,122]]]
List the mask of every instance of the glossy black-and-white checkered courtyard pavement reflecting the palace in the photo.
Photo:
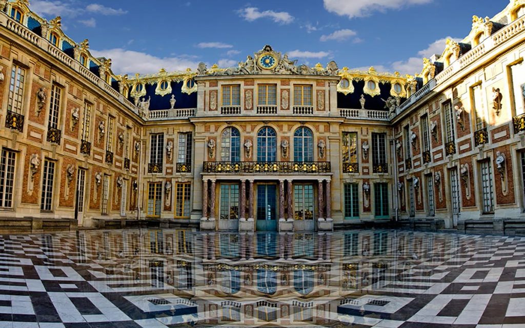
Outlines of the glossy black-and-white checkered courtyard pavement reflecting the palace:
[[519,327],[524,254],[409,231],[3,235],[0,328]]

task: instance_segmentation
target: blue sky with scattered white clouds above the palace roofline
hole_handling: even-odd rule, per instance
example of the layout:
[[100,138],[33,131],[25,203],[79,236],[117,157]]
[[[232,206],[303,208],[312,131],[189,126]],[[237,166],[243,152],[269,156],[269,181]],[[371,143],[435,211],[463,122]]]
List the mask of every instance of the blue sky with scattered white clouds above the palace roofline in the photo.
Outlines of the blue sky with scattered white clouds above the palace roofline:
[[[421,71],[446,37],[468,35],[472,15],[493,16],[508,0],[32,0],[65,33],[88,38],[115,73],[236,66],[265,44],[300,63]],[[474,9],[473,9],[474,8]]]

